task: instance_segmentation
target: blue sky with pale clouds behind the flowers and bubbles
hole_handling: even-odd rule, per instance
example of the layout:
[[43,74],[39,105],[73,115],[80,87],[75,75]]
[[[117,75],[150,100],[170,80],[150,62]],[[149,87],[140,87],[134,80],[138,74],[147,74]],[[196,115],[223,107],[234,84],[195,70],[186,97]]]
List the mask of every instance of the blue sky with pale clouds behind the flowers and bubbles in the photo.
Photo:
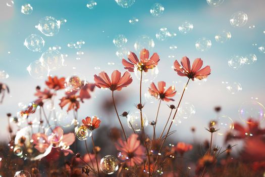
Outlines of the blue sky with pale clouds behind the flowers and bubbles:
[[[1,1],[0,17],[0,69],[5,70],[10,77],[2,80],[11,88],[12,97],[5,98],[4,104],[0,106],[0,116],[4,117],[6,112],[15,113],[18,111],[19,102],[30,102],[34,99],[33,93],[36,85],[44,86],[44,80],[36,80],[30,77],[27,66],[38,60],[42,53],[29,51],[24,45],[25,38],[36,33],[45,40],[44,50],[48,47],[60,46],[61,53],[67,54],[65,64],[67,66],[52,71],[50,74],[59,76],[68,76],[69,73],[82,73],[88,81],[93,81],[93,75],[101,70],[112,72],[114,69],[124,71],[121,60],[116,56],[116,48],[113,44],[113,38],[117,34],[124,34],[128,42],[126,48],[135,52],[133,45],[139,35],[145,34],[153,38],[155,47],[152,52],[160,55],[161,61],[158,65],[160,70],[154,82],[165,80],[167,85],[172,81],[186,81],[174,72],[171,68],[173,62],[180,60],[183,56],[188,56],[192,61],[195,58],[202,58],[205,65],[210,65],[212,72],[207,81],[202,85],[192,82],[189,85],[188,92],[184,96],[184,102],[190,102],[196,109],[196,114],[183,122],[183,126],[178,126],[179,132],[187,131],[186,136],[177,137],[181,139],[191,139],[189,133],[190,126],[197,125],[198,132],[204,133],[204,127],[209,120],[215,117],[213,107],[221,105],[223,114],[229,115],[234,121],[240,121],[238,118],[238,108],[244,101],[251,100],[251,97],[258,98],[258,101],[265,104],[264,89],[264,54],[258,52],[258,47],[265,43],[265,21],[263,7],[265,3],[262,0],[225,0],[219,7],[210,7],[206,1],[186,1],[186,0],[136,0],[135,4],[125,9],[117,5],[114,0],[96,0],[97,6],[90,10],[86,7],[87,1],[15,1],[13,7],[7,7],[5,1]],[[33,7],[31,15],[24,15],[20,12],[23,4],[29,3]],[[161,17],[150,15],[150,8],[154,3],[161,3],[165,7],[165,12]],[[234,28],[230,25],[230,16],[238,11],[243,11],[248,15],[248,21],[241,28]],[[38,24],[39,19],[45,16],[52,16],[60,20],[67,19],[67,23],[61,25],[60,31],[55,36],[45,36],[34,26]],[[137,17],[137,24],[130,24],[129,19]],[[178,31],[178,26],[184,21],[190,21],[194,28],[186,35]],[[255,25],[254,29],[249,26]],[[155,38],[155,33],[163,27],[169,31],[176,32],[177,36],[169,38],[167,41],[159,41]],[[215,41],[217,35],[223,29],[230,31],[232,38],[225,43]],[[103,32],[104,31],[104,32]],[[199,52],[195,48],[195,42],[201,37],[211,40],[211,48],[207,52]],[[84,40],[82,47],[84,55],[81,60],[76,60],[76,50],[69,49],[67,43]],[[256,43],[257,46],[252,44]],[[169,49],[171,45],[178,47],[177,50]],[[11,52],[8,54],[8,52]],[[238,70],[229,68],[227,59],[232,55],[246,56],[255,54],[256,63],[246,65]],[[137,54],[138,55],[138,54]],[[174,55],[175,58],[169,58]],[[108,62],[114,62],[115,65],[108,65]],[[76,69],[73,69],[75,67]],[[100,67],[95,70],[94,67]],[[126,104],[123,104],[119,110],[135,110],[133,104],[138,101],[138,80],[133,75],[134,82],[121,94],[125,97],[130,93],[131,97],[126,97]],[[242,85],[242,91],[231,95],[229,94],[222,81],[239,82]],[[144,85],[147,89],[149,83]],[[146,90],[145,90],[146,91]],[[181,92],[177,88],[177,92]],[[23,93],[23,94],[21,94]],[[118,94],[118,93],[117,93]],[[80,119],[82,116],[99,115],[106,122],[115,125],[115,115],[100,115],[98,105],[103,97],[110,95],[110,92],[97,90],[93,98],[87,101],[80,109]],[[176,100],[178,97],[176,97]],[[177,104],[177,103],[175,103]],[[89,109],[85,109],[88,107]],[[157,103],[146,103],[146,115],[149,120],[154,119],[153,109],[156,109]],[[83,109],[82,109],[83,108]],[[169,110],[166,104],[162,105],[161,116],[158,120],[163,121],[167,117]],[[165,115],[165,116],[162,116]],[[5,122],[6,119],[1,119]],[[124,122],[126,123],[126,122]],[[6,122],[5,122],[6,124]],[[1,131],[4,131],[2,129]]]

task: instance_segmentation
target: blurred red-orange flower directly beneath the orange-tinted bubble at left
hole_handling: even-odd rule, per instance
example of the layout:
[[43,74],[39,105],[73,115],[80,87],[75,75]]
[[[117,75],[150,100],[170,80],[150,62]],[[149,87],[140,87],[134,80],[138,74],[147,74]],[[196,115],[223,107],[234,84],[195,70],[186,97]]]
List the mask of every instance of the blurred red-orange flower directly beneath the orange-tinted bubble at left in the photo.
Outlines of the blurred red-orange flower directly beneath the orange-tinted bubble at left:
[[77,111],[80,107],[79,101],[78,101],[78,96],[75,95],[76,92],[70,92],[66,93],[66,97],[63,97],[61,100],[61,103],[59,104],[61,108],[63,109],[64,106],[69,104],[67,112],[74,109]]

